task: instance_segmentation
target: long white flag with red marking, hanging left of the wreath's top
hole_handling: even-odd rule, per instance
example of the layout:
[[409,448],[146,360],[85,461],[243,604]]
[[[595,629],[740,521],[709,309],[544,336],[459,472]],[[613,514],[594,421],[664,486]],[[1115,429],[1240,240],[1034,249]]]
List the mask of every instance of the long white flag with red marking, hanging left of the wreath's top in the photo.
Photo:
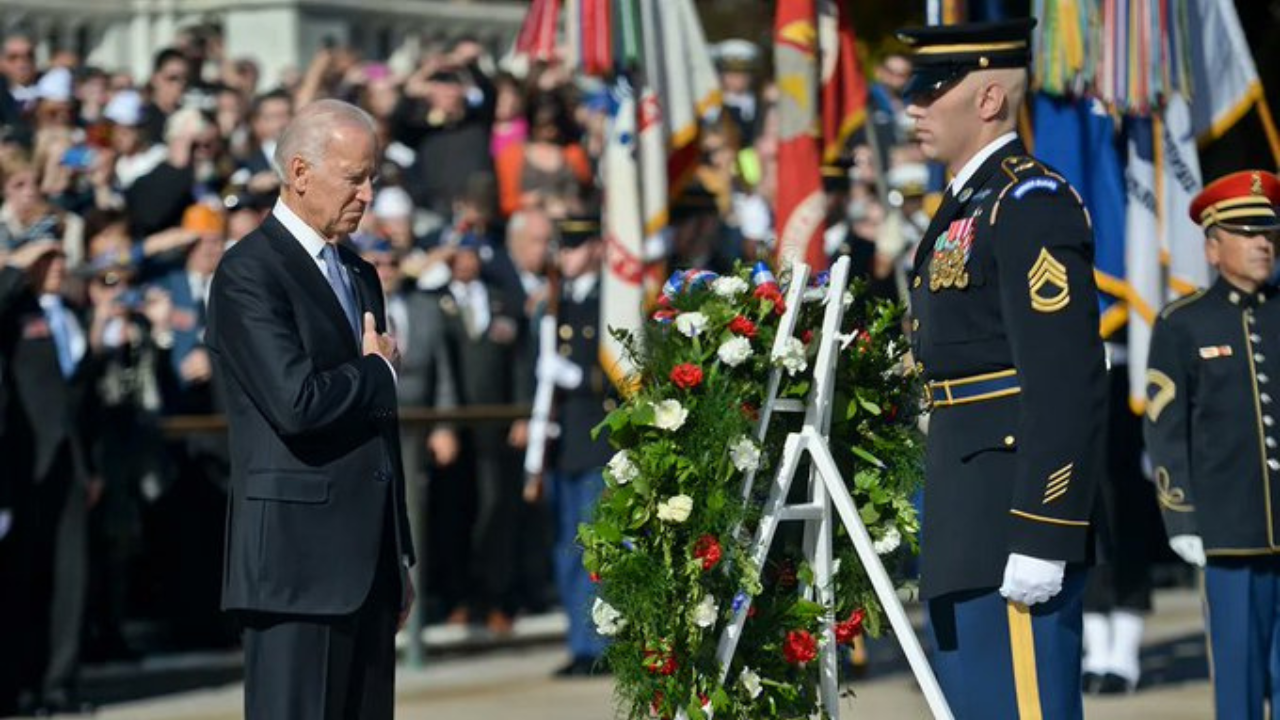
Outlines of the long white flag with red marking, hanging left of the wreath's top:
[[636,104],[627,87],[609,123],[604,149],[605,260],[600,287],[600,366],[620,392],[630,393],[634,368],[613,329],[639,332],[643,324],[640,178],[636,170]]

